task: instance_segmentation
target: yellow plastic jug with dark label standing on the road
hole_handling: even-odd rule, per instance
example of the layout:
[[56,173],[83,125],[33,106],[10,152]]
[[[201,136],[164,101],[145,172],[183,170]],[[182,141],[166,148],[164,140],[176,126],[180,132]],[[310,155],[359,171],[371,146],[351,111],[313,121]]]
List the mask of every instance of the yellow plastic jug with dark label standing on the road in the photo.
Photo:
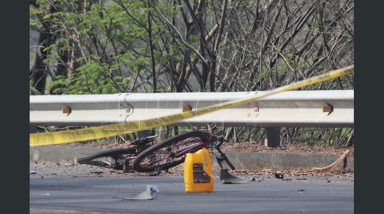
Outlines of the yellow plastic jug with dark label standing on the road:
[[212,192],[213,177],[209,152],[201,149],[188,152],[184,162],[185,191],[189,193]]

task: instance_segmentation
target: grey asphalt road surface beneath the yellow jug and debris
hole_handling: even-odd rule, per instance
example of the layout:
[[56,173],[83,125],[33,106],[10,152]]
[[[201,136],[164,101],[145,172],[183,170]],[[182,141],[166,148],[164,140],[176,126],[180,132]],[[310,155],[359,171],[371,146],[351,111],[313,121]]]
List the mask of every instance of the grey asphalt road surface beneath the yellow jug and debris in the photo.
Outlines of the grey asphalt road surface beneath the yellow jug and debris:
[[[54,166],[30,163],[30,213],[327,213],[354,212],[353,178],[281,180],[261,176],[261,182],[221,184],[215,177],[213,192],[186,193],[182,176],[126,177],[89,174],[89,166]],[[100,168],[97,168],[101,171]],[[107,170],[108,171],[108,170]],[[52,175],[55,173],[56,175]],[[77,176],[73,176],[73,175]],[[43,178],[42,178],[43,175]],[[328,182],[330,181],[330,182]],[[122,201],[148,184],[160,190],[152,200]],[[302,191],[299,191],[302,190]]]

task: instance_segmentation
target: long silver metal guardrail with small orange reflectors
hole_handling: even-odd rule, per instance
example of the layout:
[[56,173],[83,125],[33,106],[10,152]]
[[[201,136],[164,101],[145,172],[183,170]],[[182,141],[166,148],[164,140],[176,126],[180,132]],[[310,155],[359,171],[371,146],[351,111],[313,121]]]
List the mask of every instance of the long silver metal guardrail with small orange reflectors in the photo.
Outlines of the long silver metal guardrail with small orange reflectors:
[[[263,91],[30,95],[29,124],[100,126],[180,113]],[[323,112],[325,111],[330,112]],[[63,113],[65,112],[65,113]],[[353,127],[354,91],[284,91],[173,126]]]

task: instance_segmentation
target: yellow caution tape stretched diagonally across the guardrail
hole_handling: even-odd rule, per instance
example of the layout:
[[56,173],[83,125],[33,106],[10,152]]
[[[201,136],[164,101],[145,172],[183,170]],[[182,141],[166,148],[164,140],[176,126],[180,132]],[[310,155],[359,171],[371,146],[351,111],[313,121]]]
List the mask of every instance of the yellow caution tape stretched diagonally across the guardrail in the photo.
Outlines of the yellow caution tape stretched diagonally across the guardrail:
[[[148,128],[155,128],[163,125],[170,125],[181,120],[196,117],[196,116],[217,111],[220,109],[240,106],[245,103],[260,99],[262,97],[279,93],[281,91],[297,89],[300,87],[334,79],[336,77],[340,77],[340,76],[352,73],[353,71],[354,71],[354,65],[351,65],[342,69],[330,71],[330,72],[320,74],[296,83],[282,86],[277,89],[271,89],[271,90],[265,91],[265,93],[257,94],[255,96],[251,96],[248,98],[229,101],[221,105],[212,105],[209,107],[199,108],[194,111],[185,111],[179,114],[155,118],[155,119],[146,120],[146,121],[103,125],[103,126],[97,126],[97,127],[91,127],[91,128],[75,129],[70,131],[55,131],[55,132],[29,134],[29,145],[36,146],[36,145],[58,144],[58,143],[70,143],[70,142],[76,142],[76,141],[87,141],[92,139],[129,134],[132,132],[137,132],[137,131],[141,131]],[[139,124],[140,124],[140,127],[139,127]]]

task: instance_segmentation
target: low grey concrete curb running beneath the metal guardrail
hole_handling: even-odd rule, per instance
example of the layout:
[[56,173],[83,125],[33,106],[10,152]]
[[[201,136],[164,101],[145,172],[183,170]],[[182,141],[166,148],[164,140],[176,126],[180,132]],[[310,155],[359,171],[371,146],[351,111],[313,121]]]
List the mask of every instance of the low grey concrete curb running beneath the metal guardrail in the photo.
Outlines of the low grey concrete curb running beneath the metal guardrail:
[[[30,146],[29,161],[77,163],[76,157],[99,152],[108,148]],[[218,155],[217,152],[215,152]],[[293,152],[226,152],[228,159],[236,169],[307,170],[313,167],[325,167],[337,160],[339,155],[310,154]],[[212,157],[212,168],[219,169],[216,158]],[[354,170],[354,157],[347,157],[346,163],[339,164],[335,170],[346,168]],[[226,162],[223,168],[229,168]]]

